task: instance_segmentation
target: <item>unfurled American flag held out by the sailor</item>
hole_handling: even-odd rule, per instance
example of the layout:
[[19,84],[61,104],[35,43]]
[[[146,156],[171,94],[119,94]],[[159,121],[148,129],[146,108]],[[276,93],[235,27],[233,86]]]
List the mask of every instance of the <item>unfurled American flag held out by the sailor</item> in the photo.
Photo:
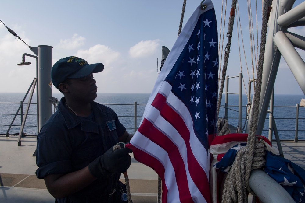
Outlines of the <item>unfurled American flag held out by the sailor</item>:
[[209,141],[217,132],[218,43],[213,3],[185,24],[127,147],[162,180],[162,202],[210,202]]

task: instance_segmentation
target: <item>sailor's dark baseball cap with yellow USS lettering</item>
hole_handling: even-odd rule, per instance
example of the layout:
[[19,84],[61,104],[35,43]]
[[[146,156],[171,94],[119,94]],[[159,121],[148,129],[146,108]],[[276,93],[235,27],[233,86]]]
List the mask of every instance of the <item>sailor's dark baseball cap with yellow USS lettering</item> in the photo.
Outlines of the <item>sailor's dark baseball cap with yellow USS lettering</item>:
[[59,84],[67,78],[82,78],[91,73],[98,73],[104,70],[102,63],[88,64],[82,58],[69,56],[59,59],[51,69],[53,85],[58,88]]

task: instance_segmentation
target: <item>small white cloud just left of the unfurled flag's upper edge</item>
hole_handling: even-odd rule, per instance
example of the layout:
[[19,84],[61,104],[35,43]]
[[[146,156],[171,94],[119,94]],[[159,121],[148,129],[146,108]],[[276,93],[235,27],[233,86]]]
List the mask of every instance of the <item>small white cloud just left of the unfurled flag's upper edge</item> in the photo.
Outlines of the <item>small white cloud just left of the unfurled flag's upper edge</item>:
[[135,46],[129,49],[129,56],[131,58],[147,57],[155,53],[159,47],[159,39],[140,41]]

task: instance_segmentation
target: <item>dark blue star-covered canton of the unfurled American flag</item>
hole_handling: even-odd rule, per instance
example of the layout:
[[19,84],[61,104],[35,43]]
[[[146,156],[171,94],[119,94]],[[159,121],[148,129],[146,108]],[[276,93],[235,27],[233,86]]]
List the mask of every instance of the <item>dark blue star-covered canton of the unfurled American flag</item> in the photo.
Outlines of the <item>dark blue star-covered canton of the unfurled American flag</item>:
[[203,13],[185,48],[165,79],[188,107],[196,136],[208,149],[207,136],[217,132],[218,43],[214,10]]

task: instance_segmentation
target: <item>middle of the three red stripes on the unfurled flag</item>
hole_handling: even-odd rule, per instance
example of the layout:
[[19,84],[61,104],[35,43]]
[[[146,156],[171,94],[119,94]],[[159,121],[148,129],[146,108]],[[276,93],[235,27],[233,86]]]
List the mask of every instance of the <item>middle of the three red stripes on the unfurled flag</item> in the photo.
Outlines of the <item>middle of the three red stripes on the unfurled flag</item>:
[[188,187],[186,187],[188,186],[188,180],[185,166],[177,146],[167,136],[154,127],[146,118],[143,120],[138,131],[145,137],[149,138],[152,142],[155,142],[157,145],[162,147],[168,153],[170,162],[175,171],[180,202],[194,202],[192,201]]

